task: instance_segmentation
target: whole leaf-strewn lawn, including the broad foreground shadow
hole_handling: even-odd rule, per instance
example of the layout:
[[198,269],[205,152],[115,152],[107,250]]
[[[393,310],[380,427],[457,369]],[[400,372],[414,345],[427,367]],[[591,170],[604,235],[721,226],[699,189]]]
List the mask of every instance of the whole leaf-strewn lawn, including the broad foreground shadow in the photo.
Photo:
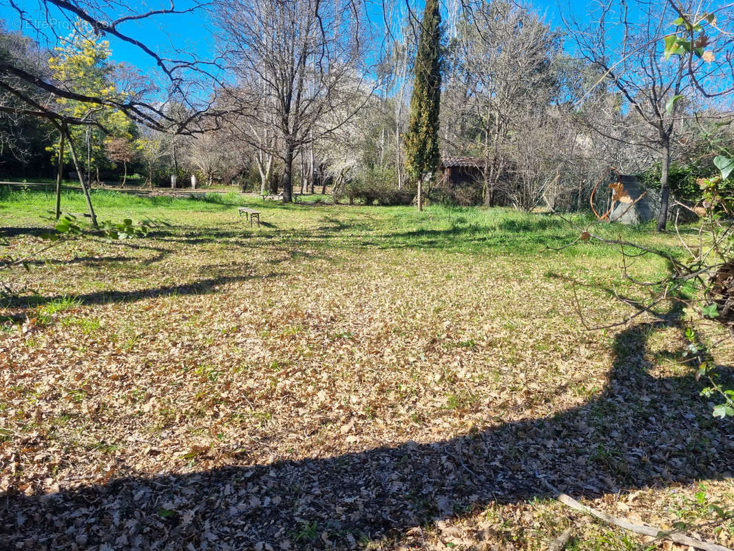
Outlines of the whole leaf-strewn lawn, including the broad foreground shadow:
[[[615,292],[646,292],[618,248],[506,209],[92,199],[101,220],[156,226],[0,272],[0,547],[644,543],[548,483],[734,546],[709,510],[734,504],[734,425],[682,363],[680,314],[584,328],[633,313]],[[0,254],[40,250],[52,206],[3,192]],[[81,195],[62,208],[84,212]],[[651,227],[596,231],[676,251]],[[647,257],[629,269],[664,273]],[[730,366],[732,350],[714,358]]]

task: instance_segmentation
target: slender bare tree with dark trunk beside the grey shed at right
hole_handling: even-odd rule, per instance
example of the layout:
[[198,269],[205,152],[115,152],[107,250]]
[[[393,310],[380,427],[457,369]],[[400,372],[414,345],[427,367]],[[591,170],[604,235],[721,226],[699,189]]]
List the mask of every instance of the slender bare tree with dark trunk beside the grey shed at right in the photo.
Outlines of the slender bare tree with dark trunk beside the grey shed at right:
[[[629,116],[619,118],[625,132],[616,138],[648,148],[658,156],[661,163],[658,231],[665,229],[668,217],[672,145],[682,128],[680,121],[690,115],[686,104],[690,106],[697,96],[700,99],[694,83],[708,82],[711,75],[720,71],[717,63],[711,63],[716,57],[713,53],[717,49],[716,40],[697,45],[710,49],[709,62],[702,59],[693,67],[684,57],[666,59],[664,37],[675,31],[678,10],[694,12],[705,8],[697,2],[675,7],[672,3],[650,0],[610,0],[597,4],[595,14],[584,20],[590,21],[588,24],[567,21],[581,56],[603,73],[600,82],[619,92],[620,112],[629,111]],[[608,127],[594,128],[610,135]]]

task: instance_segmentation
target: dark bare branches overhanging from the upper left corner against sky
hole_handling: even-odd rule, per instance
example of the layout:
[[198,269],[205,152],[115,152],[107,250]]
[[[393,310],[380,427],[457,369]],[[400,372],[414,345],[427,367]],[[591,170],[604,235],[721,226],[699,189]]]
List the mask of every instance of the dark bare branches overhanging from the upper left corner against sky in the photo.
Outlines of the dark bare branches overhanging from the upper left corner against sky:
[[[32,2],[30,2],[32,4]],[[202,100],[205,95],[200,90],[211,89],[211,82],[219,82],[214,69],[216,66],[206,60],[195,60],[183,51],[172,51],[171,57],[156,53],[151,46],[133,37],[127,31],[130,24],[136,21],[156,18],[161,15],[195,12],[205,4],[195,1],[183,10],[170,7],[151,10],[137,10],[134,4],[126,5],[119,2],[109,3],[101,0],[36,0],[37,9],[29,10],[29,6],[11,1],[10,6],[18,14],[20,26],[26,32],[35,32],[37,42],[59,43],[62,37],[57,34],[57,26],[46,25],[46,21],[66,18],[71,24],[82,21],[89,24],[93,32],[106,37],[115,37],[117,40],[138,48],[142,54],[150,57],[156,64],[162,76],[159,83],[148,79],[148,85],[139,87],[134,94],[117,94],[106,96],[90,93],[79,93],[68,82],[59,82],[51,78],[44,64],[34,68],[18,62],[15,57],[0,57],[0,90],[20,98],[24,102],[22,109],[25,115],[37,115],[54,120],[66,120],[67,123],[84,123],[88,121],[73,120],[67,115],[57,112],[53,106],[44,101],[38,101],[40,94],[53,95],[71,101],[79,101],[90,105],[90,109],[109,107],[123,112],[131,120],[153,129],[166,132],[189,132],[187,128],[192,122],[202,124],[203,120],[215,120],[210,115],[211,101]],[[206,3],[208,4],[208,3]],[[64,27],[64,26],[59,26]],[[180,55],[179,55],[180,54]],[[140,82],[140,79],[137,79]],[[161,90],[160,83],[165,84]],[[178,120],[170,116],[168,107],[170,101],[186,104],[189,115],[185,120]],[[21,112],[15,107],[13,112]],[[8,107],[0,105],[0,110],[8,111]]]

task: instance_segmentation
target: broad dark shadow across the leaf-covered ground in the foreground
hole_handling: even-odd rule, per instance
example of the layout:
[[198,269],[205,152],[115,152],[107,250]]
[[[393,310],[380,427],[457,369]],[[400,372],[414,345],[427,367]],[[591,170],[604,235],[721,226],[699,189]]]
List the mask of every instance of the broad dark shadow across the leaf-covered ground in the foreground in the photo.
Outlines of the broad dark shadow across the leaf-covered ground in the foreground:
[[[492,503],[547,497],[541,478],[575,497],[598,497],[731,477],[734,423],[711,417],[694,375],[649,372],[655,354],[647,339],[663,328],[680,329],[677,314],[619,332],[600,395],[552,417],[346,452],[338,451],[349,444],[337,434],[333,456],[272,464],[258,463],[262,450],[252,445],[233,456],[233,467],[113,476],[40,496],[10,491],[0,505],[0,544],[239,550],[258,542],[277,549],[289,539],[297,547],[349,549],[355,539],[403,534]],[[731,378],[729,368],[722,371]],[[517,416],[523,406],[507,407]]]

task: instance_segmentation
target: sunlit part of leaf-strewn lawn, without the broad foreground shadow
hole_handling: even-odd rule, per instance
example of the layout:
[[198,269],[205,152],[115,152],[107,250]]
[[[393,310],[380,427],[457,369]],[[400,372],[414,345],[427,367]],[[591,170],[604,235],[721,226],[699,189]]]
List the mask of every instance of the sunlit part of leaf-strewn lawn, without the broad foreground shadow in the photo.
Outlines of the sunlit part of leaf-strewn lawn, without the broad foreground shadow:
[[[603,397],[612,375],[618,390],[639,390],[631,380],[638,364],[662,379],[687,368],[671,366],[682,342],[675,331],[651,325],[643,335],[649,345],[644,352],[630,342],[632,336],[619,340],[623,328],[584,331],[576,295],[584,318],[594,324],[633,312],[614,292],[638,298],[645,292],[620,272],[618,247],[577,241],[575,226],[592,221],[584,215],[571,216],[569,224],[511,209],[283,205],[236,192],[189,199],[95,190],[92,201],[101,220],[165,224],[144,238],[87,237],[40,252],[47,242],[38,236],[53,226],[48,211],[54,196],[0,192],[0,242],[6,247],[0,255],[28,254],[37,261],[29,271],[2,276],[10,290],[0,297],[6,329],[0,338],[10,370],[0,375],[18,390],[11,383],[0,388],[0,441],[3,453],[18,458],[13,484],[57,475],[43,471],[46,462],[33,461],[46,449],[65,450],[65,460],[54,467],[59,478],[93,478],[112,464],[135,465],[148,477],[230,461],[249,468],[277,458],[335,458],[346,469],[360,461],[353,455],[360,450],[409,441],[444,446],[457,436],[471,439],[461,450],[446,447],[446,456],[477,472],[487,460],[479,445],[484,433],[544,418],[551,419],[548,426],[566,418],[573,423],[556,433],[545,434],[546,425],[536,424],[525,436],[515,434],[519,443],[503,444],[506,464],[490,465],[482,474],[511,469],[515,462],[522,468],[528,449],[562,442],[569,429],[578,433],[574,438],[595,439],[578,451],[583,461],[573,469],[625,480],[625,447],[647,446],[649,457],[658,453],[633,436],[636,414],[636,422],[658,419],[653,435],[660,426],[682,427],[683,433],[669,438],[676,446],[693,438],[688,423],[670,426],[666,414],[653,416],[656,406],[633,392],[619,404]],[[236,207],[243,205],[261,211],[261,226],[251,228],[238,216]],[[64,192],[62,208],[84,212],[84,199]],[[599,224],[594,231],[679,253],[677,237],[657,234],[653,226]],[[630,266],[644,279],[665,269],[647,257]],[[680,384],[697,384],[689,379]],[[671,415],[680,407],[705,411],[695,438],[706,436],[708,406],[689,397],[679,404],[670,396],[682,390],[655,382],[644,390],[664,392]],[[10,411],[12,416],[5,413]],[[629,442],[614,439],[608,422],[631,434]],[[151,450],[159,436],[166,444]],[[31,438],[37,442],[33,453],[23,452]],[[538,446],[524,448],[526,439]],[[552,449],[538,456],[553,468]],[[412,455],[404,457],[400,469],[413,464]],[[376,465],[352,468],[362,472]],[[459,478],[463,468],[457,464]],[[631,468],[646,480],[641,461]],[[390,480],[385,484],[389,488]],[[722,500],[722,487],[713,481],[707,500],[709,494]],[[432,511],[433,500],[408,490],[390,491],[390,514],[413,505],[421,514]],[[288,503],[294,491],[288,491]],[[665,494],[656,486],[644,491],[649,495],[641,503],[660,503]],[[699,518],[698,489],[677,491],[670,505]],[[324,493],[324,503],[328,498]],[[604,527],[588,530],[550,500],[485,504],[485,514],[469,503],[462,498],[454,504],[468,534],[489,525],[497,541],[520,548],[539,549],[572,526],[577,539],[570,549],[621,550],[641,543]],[[658,508],[655,514],[666,512]],[[694,519],[689,513],[680,517]],[[340,541],[316,516],[304,514],[280,529],[301,546],[316,547],[323,533]]]

